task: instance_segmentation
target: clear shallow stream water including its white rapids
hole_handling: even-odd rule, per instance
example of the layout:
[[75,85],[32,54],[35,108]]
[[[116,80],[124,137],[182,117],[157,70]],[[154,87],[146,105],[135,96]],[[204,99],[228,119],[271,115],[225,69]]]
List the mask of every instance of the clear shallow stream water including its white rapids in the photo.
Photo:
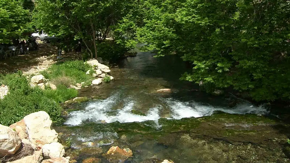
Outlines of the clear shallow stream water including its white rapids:
[[[69,106],[64,124],[55,126],[71,146],[66,150],[71,159],[108,162],[101,154],[118,145],[132,149],[126,162],[134,163],[289,161],[282,143],[287,134],[277,133],[276,121],[263,117],[269,113],[265,105],[201,92],[198,85],[179,80],[190,71],[179,56],[153,56],[139,52],[126,58],[111,68],[113,81],[81,90],[80,96],[92,100]],[[173,92],[156,93],[163,88]],[[281,143],[269,149],[272,137]]]

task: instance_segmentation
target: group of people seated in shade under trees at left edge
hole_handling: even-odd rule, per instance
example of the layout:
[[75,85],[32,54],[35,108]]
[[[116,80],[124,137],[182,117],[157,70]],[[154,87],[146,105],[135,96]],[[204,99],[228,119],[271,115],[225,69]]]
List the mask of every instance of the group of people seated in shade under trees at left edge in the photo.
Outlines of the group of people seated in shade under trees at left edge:
[[28,51],[31,50],[37,50],[38,43],[34,39],[28,39],[28,40],[19,40],[19,39],[13,39],[12,44],[8,43],[0,43],[0,55],[3,55],[6,52],[10,52],[12,54],[15,54],[18,50],[19,54],[26,54]]

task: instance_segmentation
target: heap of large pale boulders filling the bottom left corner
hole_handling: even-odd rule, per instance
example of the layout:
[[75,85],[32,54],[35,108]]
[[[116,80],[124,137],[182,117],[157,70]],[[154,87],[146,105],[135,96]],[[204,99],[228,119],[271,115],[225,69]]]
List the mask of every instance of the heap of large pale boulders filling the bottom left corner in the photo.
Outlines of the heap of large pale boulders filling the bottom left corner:
[[58,134],[51,125],[45,111],[29,114],[9,127],[0,124],[0,157],[13,158],[29,146],[30,155],[10,163],[68,163],[69,159],[63,157],[64,146],[58,142]]

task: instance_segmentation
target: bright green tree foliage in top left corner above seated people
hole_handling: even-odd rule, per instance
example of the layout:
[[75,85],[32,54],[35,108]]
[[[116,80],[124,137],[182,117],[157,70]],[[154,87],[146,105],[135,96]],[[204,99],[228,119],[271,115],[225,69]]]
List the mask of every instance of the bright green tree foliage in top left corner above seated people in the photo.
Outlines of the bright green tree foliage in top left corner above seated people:
[[19,38],[30,31],[29,11],[15,0],[0,1],[0,42],[10,43],[12,38]]

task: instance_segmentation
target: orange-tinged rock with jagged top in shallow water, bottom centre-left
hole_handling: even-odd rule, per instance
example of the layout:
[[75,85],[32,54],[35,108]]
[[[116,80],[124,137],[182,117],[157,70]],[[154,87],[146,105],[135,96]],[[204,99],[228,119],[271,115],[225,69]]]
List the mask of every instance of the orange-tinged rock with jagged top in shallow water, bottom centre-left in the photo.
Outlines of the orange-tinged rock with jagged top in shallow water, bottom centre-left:
[[103,156],[112,163],[123,163],[125,162],[129,157],[132,157],[133,153],[131,149],[124,148],[120,149],[119,146],[112,146],[109,151],[106,154],[103,154]]

